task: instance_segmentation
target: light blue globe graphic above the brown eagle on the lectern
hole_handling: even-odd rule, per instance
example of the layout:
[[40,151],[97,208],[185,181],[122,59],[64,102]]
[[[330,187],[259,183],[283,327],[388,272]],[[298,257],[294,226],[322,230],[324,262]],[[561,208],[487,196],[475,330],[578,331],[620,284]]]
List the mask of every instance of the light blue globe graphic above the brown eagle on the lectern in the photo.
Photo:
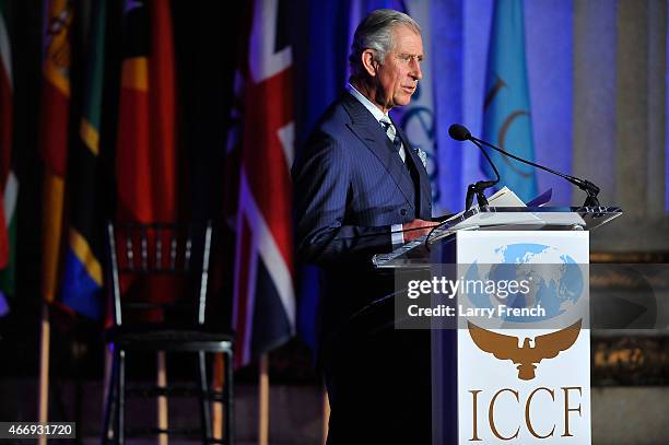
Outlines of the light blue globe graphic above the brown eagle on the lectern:
[[[504,315],[510,323],[533,323],[558,317],[575,306],[584,292],[582,267],[553,246],[509,244],[494,249],[491,264],[474,261],[462,277],[466,282],[483,281],[496,286],[471,286],[466,295],[474,307],[542,307],[545,316]],[[529,292],[504,290],[504,282],[526,280]]]

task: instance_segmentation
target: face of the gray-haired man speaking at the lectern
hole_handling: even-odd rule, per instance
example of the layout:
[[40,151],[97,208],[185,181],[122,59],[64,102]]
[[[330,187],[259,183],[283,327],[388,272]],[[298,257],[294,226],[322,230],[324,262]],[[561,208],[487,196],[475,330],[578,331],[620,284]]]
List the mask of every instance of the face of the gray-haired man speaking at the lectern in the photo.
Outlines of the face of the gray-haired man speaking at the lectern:
[[408,26],[394,30],[395,45],[383,63],[376,63],[376,102],[385,112],[409,104],[423,77],[423,40]]

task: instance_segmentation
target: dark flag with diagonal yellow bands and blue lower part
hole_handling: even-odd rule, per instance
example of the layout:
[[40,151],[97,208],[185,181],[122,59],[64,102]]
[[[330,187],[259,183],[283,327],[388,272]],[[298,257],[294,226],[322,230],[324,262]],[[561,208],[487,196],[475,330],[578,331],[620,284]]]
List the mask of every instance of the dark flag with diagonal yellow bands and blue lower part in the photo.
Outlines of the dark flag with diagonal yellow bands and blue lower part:
[[70,194],[69,236],[64,254],[61,301],[71,309],[98,319],[102,315],[99,290],[101,197],[99,128],[105,68],[105,2],[94,3],[87,48],[86,86],[79,139],[72,148],[68,176]]

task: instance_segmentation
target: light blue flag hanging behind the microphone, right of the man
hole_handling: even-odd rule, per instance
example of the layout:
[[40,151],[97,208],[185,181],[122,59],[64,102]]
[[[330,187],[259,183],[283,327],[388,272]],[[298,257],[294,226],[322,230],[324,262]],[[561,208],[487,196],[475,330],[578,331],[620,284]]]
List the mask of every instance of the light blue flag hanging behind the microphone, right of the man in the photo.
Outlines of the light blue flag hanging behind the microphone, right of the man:
[[[483,104],[483,140],[527,160],[535,159],[529,86],[525,62],[525,20],[523,0],[494,2],[485,97]],[[524,201],[537,195],[535,168],[490,152],[502,180]],[[481,169],[493,177],[485,157]]]

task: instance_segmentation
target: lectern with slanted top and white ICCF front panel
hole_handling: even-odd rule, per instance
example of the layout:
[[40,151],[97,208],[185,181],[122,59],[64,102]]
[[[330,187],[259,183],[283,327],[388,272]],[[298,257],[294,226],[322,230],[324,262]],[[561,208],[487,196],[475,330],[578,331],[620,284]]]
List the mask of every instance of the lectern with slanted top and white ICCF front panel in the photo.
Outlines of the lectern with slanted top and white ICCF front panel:
[[589,231],[621,214],[476,208],[373,258],[432,330],[433,445],[591,443]]

